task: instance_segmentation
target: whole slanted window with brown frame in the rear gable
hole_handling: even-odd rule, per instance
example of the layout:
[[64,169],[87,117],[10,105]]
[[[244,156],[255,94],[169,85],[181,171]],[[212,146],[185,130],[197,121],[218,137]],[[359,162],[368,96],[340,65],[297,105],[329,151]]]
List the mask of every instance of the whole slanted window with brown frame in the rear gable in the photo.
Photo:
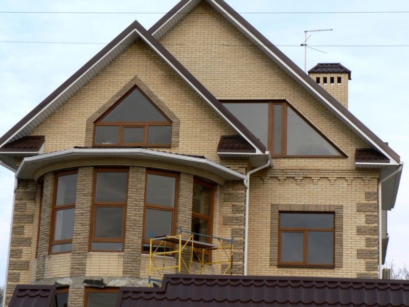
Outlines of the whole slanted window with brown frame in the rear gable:
[[343,156],[320,131],[286,102],[223,102],[272,153],[273,157]]

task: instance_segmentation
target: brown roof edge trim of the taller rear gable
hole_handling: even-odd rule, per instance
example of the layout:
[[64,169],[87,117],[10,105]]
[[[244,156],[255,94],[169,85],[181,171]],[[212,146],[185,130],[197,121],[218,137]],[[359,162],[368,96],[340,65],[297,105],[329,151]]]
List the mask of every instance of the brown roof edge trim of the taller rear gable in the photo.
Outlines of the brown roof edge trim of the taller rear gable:
[[[178,9],[186,5],[192,0],[181,0],[173,9],[169,11],[164,17],[160,19],[153,27],[149,29],[149,33],[157,31],[158,28],[163,26],[166,20],[168,20]],[[201,0],[203,1],[203,0]],[[276,46],[274,46],[264,35],[262,35],[256,28],[248,23],[239,13],[237,13],[231,6],[225,3],[223,0],[206,0],[213,1],[220,5],[224,10],[228,11],[234,18],[236,18],[240,24],[244,26],[249,32],[252,33],[257,39],[262,42],[262,45],[267,50],[276,54],[283,62],[285,62],[294,72],[296,72],[301,79],[308,83],[310,87],[321,96],[323,96],[328,102],[330,102],[340,113],[342,113],[350,122],[358,127],[370,140],[372,140],[377,146],[388,153],[396,162],[400,162],[399,155],[388,145],[386,145],[378,136],[376,136],[367,126],[361,123],[348,109],[339,103],[334,97],[332,97],[322,86],[314,82],[296,63],[291,61],[283,52],[281,52]],[[199,1],[200,2],[200,1]]]

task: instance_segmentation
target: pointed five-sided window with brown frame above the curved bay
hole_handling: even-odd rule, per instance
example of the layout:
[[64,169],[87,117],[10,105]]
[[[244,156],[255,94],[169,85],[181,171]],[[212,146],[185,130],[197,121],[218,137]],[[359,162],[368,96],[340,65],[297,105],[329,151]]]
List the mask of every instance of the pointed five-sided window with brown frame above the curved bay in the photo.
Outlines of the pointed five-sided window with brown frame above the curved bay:
[[96,146],[170,146],[172,122],[133,87],[96,122]]

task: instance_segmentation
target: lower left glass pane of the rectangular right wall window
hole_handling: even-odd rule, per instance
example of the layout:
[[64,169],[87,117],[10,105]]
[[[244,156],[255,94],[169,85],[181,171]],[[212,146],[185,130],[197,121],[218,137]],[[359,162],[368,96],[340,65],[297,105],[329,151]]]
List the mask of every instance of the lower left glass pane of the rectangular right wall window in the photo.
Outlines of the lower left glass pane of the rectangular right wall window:
[[282,262],[304,261],[304,233],[302,232],[281,233],[281,261]]

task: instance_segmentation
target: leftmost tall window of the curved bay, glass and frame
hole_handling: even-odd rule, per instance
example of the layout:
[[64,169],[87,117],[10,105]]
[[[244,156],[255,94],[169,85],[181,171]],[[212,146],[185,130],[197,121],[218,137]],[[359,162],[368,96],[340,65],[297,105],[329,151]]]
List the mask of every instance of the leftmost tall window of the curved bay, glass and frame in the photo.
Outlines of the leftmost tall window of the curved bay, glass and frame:
[[51,225],[50,253],[68,253],[73,248],[77,171],[57,173]]

